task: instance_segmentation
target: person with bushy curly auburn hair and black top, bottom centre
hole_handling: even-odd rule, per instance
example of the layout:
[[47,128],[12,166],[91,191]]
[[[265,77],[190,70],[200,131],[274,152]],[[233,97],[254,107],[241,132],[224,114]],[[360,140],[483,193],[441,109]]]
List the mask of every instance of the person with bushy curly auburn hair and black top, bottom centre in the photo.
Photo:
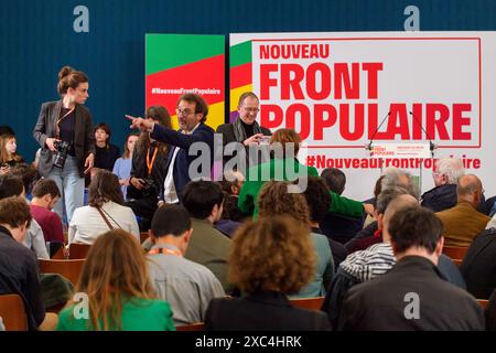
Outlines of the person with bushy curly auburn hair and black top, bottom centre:
[[[213,299],[205,329],[212,331],[324,331],[320,311],[293,307],[295,293],[315,272],[315,254],[306,225],[289,216],[260,218],[235,235],[229,255],[229,279],[247,297]],[[263,249],[263,250],[261,250]]]

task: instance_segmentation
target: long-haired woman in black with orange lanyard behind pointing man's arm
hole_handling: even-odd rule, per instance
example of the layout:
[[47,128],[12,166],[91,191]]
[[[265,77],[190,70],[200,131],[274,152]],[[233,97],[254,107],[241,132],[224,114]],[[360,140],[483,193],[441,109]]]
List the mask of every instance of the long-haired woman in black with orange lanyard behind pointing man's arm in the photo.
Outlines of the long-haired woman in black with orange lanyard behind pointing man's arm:
[[[145,119],[172,129],[171,116],[162,106],[152,106],[144,113]],[[140,220],[140,231],[150,228],[153,213],[158,207],[166,175],[169,146],[150,138],[142,131],[132,153],[131,178],[127,191],[127,205]]]

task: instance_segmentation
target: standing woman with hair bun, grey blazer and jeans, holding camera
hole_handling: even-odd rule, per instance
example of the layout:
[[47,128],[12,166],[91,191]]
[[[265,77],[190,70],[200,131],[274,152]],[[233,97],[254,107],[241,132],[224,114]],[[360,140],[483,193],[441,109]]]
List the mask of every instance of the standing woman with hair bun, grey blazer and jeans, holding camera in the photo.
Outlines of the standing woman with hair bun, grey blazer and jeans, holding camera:
[[91,114],[84,106],[88,98],[88,77],[69,66],[58,73],[61,100],[44,103],[40,110],[34,139],[41,146],[37,170],[57,184],[62,197],[54,211],[68,223],[74,210],[84,203],[84,175],[93,168],[95,136]]

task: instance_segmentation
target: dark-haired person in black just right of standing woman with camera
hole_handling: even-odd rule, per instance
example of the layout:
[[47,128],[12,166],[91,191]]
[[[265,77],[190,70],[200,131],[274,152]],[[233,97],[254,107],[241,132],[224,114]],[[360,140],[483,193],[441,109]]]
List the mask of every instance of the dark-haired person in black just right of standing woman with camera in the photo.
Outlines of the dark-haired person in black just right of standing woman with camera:
[[100,122],[95,127],[94,133],[96,150],[94,167],[112,171],[114,164],[120,156],[120,151],[116,145],[110,143],[110,137],[112,136],[110,126]]

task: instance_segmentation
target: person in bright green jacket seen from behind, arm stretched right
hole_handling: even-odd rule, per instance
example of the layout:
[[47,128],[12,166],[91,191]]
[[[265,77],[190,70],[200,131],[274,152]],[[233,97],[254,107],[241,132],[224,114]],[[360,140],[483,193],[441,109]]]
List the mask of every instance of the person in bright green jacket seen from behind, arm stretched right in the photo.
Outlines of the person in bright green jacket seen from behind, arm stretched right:
[[[251,167],[247,171],[247,179],[239,193],[239,210],[247,215],[254,215],[254,217],[258,215],[258,194],[267,181],[274,180],[276,176],[284,181],[295,181],[301,176],[319,176],[315,168],[303,165],[296,159],[301,143],[296,131],[279,129],[272,135],[270,143],[271,148],[276,150],[274,158],[269,162]],[[287,153],[289,154],[287,156]],[[330,212],[352,217],[362,216],[364,204],[339,196],[332,191],[330,193],[333,199]],[[367,213],[371,213],[371,207],[367,208]]]

